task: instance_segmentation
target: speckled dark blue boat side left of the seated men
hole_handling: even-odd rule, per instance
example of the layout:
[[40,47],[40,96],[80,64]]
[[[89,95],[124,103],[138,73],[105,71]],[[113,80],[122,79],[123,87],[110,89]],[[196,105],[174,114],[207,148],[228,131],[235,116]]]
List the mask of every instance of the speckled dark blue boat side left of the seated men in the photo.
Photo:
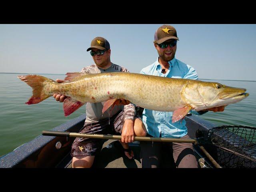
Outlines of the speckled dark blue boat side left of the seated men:
[[[79,132],[84,125],[85,117],[85,114],[83,114],[52,130]],[[58,141],[62,143],[60,149],[55,147]],[[73,141],[74,138],[68,138],[67,141],[65,137],[40,135],[2,156],[0,158],[0,168],[54,167],[70,151]]]

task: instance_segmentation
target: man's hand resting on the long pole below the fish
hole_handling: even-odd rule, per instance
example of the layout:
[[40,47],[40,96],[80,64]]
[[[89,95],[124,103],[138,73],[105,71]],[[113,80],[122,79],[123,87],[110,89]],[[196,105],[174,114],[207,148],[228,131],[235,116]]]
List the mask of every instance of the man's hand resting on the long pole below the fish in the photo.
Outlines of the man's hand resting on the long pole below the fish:
[[134,142],[133,120],[124,120],[121,136],[121,141],[124,143]]

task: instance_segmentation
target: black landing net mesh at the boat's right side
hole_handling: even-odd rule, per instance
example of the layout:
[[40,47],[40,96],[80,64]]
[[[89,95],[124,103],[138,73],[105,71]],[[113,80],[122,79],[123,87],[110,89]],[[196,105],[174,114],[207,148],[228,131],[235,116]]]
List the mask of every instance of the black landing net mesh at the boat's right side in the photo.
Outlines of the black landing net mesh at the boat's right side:
[[207,141],[215,146],[215,160],[223,168],[256,168],[255,127],[215,127],[209,131]]

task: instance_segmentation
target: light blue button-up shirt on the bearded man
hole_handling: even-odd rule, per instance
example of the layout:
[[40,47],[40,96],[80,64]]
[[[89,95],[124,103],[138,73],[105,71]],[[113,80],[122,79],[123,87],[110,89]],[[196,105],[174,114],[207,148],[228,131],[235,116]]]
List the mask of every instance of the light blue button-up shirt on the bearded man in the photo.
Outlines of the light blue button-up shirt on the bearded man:
[[[198,76],[196,70],[192,66],[189,66],[175,57],[168,62],[170,67],[166,74],[161,73],[162,68],[158,62],[156,62],[143,68],[140,74],[155,75],[168,78],[184,78],[197,80]],[[190,110],[193,114],[199,114],[195,110]],[[159,137],[180,138],[188,133],[186,128],[186,121],[177,121],[172,123],[172,112],[161,112],[149,109],[144,109],[142,113],[142,121],[146,127],[148,134]]]

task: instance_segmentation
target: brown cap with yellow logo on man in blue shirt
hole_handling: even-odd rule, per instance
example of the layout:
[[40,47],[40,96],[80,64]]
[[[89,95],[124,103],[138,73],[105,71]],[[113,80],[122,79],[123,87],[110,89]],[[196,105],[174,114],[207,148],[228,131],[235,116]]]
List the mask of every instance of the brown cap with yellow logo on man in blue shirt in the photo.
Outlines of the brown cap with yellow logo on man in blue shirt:
[[168,39],[179,40],[179,38],[177,37],[176,29],[170,25],[160,26],[155,32],[154,39],[154,43],[158,44],[165,42]]

